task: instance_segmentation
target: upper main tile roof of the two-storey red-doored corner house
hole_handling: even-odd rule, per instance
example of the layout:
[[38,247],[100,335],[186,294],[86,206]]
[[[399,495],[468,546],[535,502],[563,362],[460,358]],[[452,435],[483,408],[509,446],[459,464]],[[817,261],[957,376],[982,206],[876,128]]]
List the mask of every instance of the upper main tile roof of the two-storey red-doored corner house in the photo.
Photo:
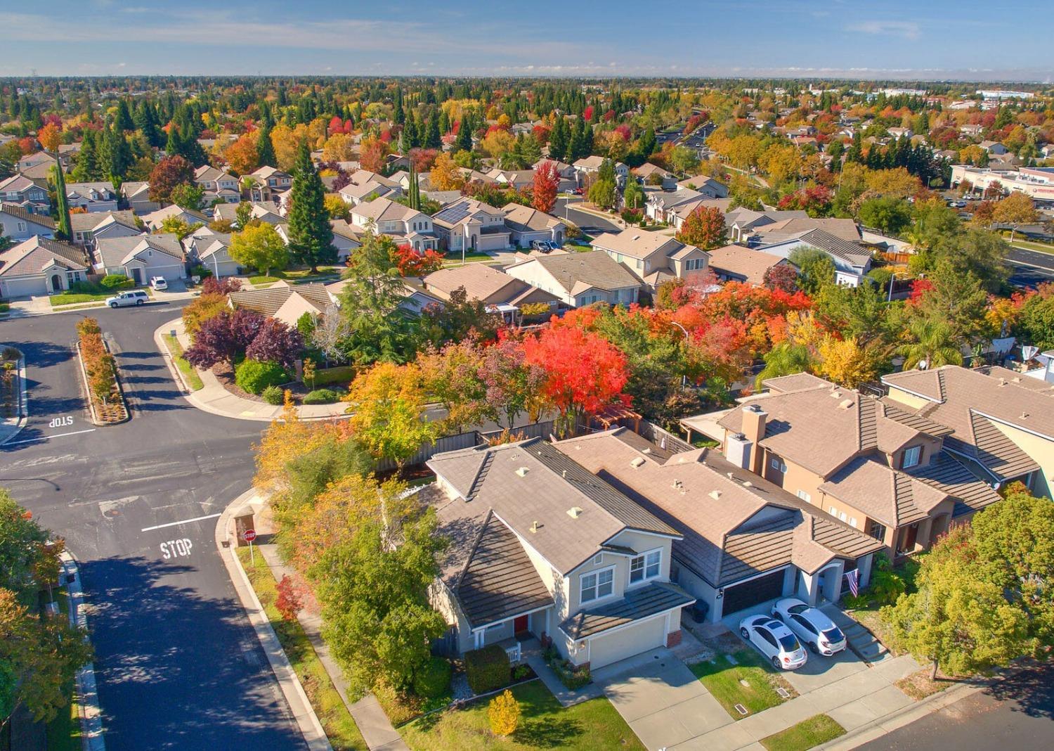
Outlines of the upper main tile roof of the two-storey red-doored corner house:
[[[627,528],[678,536],[542,439],[448,451],[427,464],[462,503],[492,509],[562,574]],[[581,513],[572,517],[575,507]]]

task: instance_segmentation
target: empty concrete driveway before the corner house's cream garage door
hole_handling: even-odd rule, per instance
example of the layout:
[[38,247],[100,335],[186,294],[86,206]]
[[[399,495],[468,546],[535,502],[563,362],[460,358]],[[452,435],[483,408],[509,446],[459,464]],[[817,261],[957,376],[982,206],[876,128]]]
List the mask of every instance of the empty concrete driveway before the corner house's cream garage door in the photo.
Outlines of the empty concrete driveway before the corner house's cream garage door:
[[601,668],[593,681],[648,749],[674,747],[733,721],[666,649]]

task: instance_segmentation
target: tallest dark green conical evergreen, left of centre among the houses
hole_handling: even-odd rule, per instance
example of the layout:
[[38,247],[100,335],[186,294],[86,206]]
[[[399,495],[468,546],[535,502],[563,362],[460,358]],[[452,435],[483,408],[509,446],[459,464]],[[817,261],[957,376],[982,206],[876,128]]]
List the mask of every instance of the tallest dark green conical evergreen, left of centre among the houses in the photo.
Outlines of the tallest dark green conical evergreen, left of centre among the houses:
[[318,264],[336,261],[333,228],[326,210],[326,186],[311,163],[306,141],[300,142],[293,168],[289,209],[289,251],[300,264],[318,270]]

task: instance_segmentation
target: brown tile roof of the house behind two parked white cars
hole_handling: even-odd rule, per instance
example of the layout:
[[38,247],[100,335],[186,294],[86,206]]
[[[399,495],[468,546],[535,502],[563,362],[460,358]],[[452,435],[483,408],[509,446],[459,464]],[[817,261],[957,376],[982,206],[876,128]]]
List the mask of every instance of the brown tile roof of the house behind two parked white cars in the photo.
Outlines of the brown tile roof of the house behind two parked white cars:
[[[823,560],[817,567],[835,556],[857,558],[882,546],[710,449],[667,458],[626,428],[555,447],[681,529],[675,556],[715,586],[796,559],[808,561],[803,567],[812,572],[818,558]],[[814,524],[816,519],[823,523]]]

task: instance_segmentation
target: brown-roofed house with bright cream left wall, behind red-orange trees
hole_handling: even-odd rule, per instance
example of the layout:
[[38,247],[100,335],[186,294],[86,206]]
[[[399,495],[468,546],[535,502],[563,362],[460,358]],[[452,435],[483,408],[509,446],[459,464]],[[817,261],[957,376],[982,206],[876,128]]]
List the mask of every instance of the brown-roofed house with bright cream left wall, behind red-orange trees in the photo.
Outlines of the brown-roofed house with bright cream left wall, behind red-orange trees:
[[507,267],[505,273],[572,308],[593,303],[631,305],[644,287],[637,275],[602,250],[539,255]]

